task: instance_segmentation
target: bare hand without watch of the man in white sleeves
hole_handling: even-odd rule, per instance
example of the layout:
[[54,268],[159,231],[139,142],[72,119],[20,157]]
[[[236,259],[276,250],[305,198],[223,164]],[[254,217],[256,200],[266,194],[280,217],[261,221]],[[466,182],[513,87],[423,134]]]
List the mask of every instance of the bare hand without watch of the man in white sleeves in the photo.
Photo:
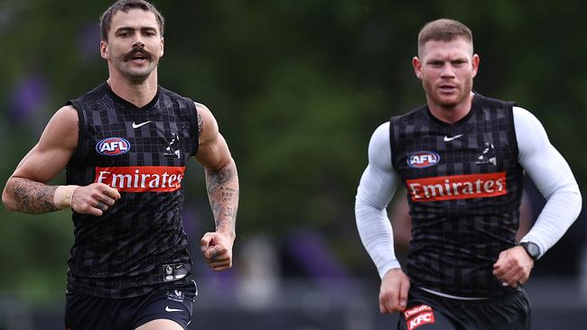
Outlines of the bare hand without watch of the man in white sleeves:
[[410,280],[399,269],[388,270],[381,279],[379,290],[379,311],[382,314],[403,312],[407,305],[407,291]]

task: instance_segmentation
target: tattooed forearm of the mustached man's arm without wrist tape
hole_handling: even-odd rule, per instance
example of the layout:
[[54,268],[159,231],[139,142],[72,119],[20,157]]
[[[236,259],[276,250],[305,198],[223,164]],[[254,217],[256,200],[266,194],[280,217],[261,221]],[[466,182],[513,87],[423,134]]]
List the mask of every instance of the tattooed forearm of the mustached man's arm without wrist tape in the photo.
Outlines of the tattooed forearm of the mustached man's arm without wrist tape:
[[220,170],[206,170],[206,187],[216,230],[235,233],[238,209],[238,174],[234,162]]

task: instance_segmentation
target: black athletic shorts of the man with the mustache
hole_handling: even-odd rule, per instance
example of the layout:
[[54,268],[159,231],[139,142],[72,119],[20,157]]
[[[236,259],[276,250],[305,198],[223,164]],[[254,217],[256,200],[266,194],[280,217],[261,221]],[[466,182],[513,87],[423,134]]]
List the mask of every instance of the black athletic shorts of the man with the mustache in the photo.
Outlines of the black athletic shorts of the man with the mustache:
[[101,298],[69,291],[65,294],[65,329],[133,330],[159,318],[187,329],[197,295],[193,280],[182,285],[169,283],[135,298]]

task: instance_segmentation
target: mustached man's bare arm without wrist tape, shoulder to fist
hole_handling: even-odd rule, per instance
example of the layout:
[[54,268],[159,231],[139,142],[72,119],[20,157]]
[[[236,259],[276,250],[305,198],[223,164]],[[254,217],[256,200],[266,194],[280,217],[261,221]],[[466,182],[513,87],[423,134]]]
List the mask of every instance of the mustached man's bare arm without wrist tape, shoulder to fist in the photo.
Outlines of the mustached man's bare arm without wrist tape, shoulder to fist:
[[206,187],[216,225],[216,232],[204,234],[200,245],[210,268],[225,270],[232,266],[232,244],[236,237],[237,166],[210,110],[204,105],[196,105],[200,136],[196,160],[206,169]]

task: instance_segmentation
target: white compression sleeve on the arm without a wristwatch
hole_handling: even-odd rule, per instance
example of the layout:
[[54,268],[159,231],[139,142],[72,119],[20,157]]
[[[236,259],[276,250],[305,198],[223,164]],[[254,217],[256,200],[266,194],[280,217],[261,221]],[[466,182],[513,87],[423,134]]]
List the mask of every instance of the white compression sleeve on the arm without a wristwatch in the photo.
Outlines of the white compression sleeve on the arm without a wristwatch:
[[387,218],[387,205],[396,193],[398,178],[391,166],[389,123],[381,124],[368,145],[368,166],[360,179],[355,217],[361,242],[375,262],[379,276],[400,268],[394,250],[394,234]]

